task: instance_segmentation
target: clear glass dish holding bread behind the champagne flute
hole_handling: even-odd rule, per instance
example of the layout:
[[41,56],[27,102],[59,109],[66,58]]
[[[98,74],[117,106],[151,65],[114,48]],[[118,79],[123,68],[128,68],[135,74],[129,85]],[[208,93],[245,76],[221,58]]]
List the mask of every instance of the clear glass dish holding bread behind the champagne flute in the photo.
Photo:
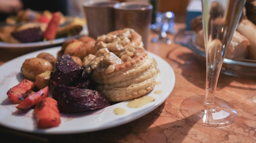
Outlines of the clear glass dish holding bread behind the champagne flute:
[[[195,37],[195,31],[181,30],[175,35],[174,42],[187,47],[200,58],[204,57],[205,60],[205,50],[195,44]],[[238,61],[225,58],[221,73],[239,77],[256,77],[256,60],[241,59]]]

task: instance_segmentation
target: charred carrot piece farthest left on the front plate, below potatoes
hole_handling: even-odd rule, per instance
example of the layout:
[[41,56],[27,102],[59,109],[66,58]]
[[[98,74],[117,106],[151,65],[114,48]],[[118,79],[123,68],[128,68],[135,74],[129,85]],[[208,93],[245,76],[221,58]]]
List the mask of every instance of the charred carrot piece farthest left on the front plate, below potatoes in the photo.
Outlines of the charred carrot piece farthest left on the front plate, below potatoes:
[[7,91],[7,96],[12,103],[17,104],[24,100],[28,94],[32,93],[35,88],[35,84],[32,81],[24,79],[16,86],[10,88]]

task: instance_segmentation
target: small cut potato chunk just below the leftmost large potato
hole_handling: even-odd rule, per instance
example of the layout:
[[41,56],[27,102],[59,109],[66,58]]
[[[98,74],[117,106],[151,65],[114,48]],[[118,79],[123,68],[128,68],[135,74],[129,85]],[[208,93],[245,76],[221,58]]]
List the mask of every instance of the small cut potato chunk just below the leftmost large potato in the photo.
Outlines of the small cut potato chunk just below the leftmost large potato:
[[45,71],[35,76],[35,86],[42,89],[50,85],[51,71]]

